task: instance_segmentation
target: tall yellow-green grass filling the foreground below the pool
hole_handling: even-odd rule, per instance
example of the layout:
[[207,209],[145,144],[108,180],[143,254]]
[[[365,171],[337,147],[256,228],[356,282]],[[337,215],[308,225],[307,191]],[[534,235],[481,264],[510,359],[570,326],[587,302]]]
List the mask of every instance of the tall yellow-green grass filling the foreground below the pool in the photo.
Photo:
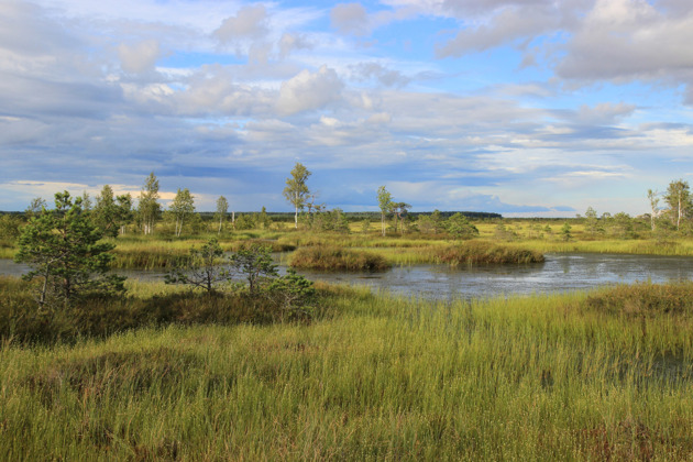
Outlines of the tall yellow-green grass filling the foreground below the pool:
[[693,286],[616,290],[6,342],[0,459],[691,459]]

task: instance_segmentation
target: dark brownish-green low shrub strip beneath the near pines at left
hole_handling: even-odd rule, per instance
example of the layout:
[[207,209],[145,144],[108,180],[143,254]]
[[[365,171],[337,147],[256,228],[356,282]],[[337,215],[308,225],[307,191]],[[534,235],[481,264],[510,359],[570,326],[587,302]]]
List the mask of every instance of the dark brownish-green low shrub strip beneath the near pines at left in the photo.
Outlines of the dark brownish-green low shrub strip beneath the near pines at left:
[[[0,340],[50,343],[101,337],[144,327],[168,324],[310,322],[329,306],[322,290],[306,302],[287,304],[283,294],[227,287],[205,293],[164,283],[128,282],[127,295],[85,295],[70,306],[56,304],[38,311],[35,284],[0,276]],[[309,298],[309,299],[308,299]]]

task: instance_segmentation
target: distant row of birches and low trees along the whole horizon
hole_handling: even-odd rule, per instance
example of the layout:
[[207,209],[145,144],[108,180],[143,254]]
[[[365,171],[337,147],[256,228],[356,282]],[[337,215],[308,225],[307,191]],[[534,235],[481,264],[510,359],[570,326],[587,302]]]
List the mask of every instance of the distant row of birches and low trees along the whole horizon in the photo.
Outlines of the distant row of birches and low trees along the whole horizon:
[[[311,193],[307,185],[311,172],[301,163],[296,163],[286,179],[284,197],[294,208],[294,227],[299,224],[306,229],[316,231],[349,232],[349,219],[341,209],[329,210],[324,204],[318,202],[318,194]],[[89,215],[92,222],[107,237],[124,234],[128,230],[136,230],[143,234],[153,234],[158,223],[167,223],[163,232],[180,237],[185,230],[193,233],[216,231],[221,233],[229,219],[229,201],[220,196],[217,208],[211,217],[211,222],[205,222],[200,213],[196,212],[195,196],[188,188],[178,189],[175,198],[167,209],[160,202],[160,183],[154,173],[151,173],[144,182],[136,200],[130,194],[116,196],[109,185],[105,185],[99,195],[92,201],[86,193],[80,198],[82,213]],[[444,217],[438,210],[432,213],[410,213],[411,205],[396,201],[385,186],[381,186],[376,193],[380,207],[381,232],[383,235],[388,230],[395,233],[420,231],[425,233],[446,232],[457,239],[471,239],[479,235],[479,230],[469,221],[469,217],[462,213]],[[600,237],[613,237],[617,239],[630,239],[637,237],[642,229],[642,221],[649,222],[649,231],[657,238],[680,233],[693,234],[693,197],[688,182],[678,179],[671,182],[667,191],[659,193],[648,190],[648,199],[651,212],[642,217],[632,218],[625,212],[614,216],[603,213],[597,216],[592,207],[584,217],[585,234],[593,239]],[[135,206],[136,201],[136,206]],[[41,216],[46,202],[36,198],[26,208],[24,216],[29,219]],[[273,219],[263,207],[260,213],[243,213],[237,217],[230,216],[234,230],[268,229]],[[374,218],[374,217],[373,217]],[[490,218],[502,218],[490,217]],[[209,220],[209,218],[208,218]],[[0,217],[0,239],[2,237],[18,237],[22,226],[20,217]],[[363,219],[362,230],[367,232],[371,227],[370,218]],[[543,237],[547,231],[540,228],[530,229],[528,238]],[[513,240],[516,233],[502,226],[496,230],[496,237],[502,240]],[[13,238],[12,238],[13,239]]]

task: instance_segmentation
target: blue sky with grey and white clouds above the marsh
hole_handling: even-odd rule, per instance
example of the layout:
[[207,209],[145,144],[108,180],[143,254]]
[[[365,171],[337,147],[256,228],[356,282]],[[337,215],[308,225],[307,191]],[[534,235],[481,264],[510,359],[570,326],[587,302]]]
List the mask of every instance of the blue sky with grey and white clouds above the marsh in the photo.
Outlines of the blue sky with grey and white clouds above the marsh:
[[0,210],[188,188],[573,217],[693,183],[690,0],[0,0]]

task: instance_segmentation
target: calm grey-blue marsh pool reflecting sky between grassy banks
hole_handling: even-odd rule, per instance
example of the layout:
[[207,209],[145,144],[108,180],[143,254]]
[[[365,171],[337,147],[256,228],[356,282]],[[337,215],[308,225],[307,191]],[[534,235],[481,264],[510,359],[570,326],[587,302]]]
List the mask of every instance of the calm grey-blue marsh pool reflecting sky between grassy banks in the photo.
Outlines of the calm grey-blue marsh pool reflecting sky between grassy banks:
[[[0,260],[0,275],[29,271]],[[282,265],[282,271],[286,267]],[[121,271],[129,277],[162,279],[157,271]],[[431,299],[477,298],[497,295],[588,289],[638,280],[664,283],[693,279],[693,257],[622,254],[547,254],[544,263],[480,265],[451,268],[447,265],[395,266],[382,273],[299,272],[306,277],[340,284],[366,285],[393,294]]]

